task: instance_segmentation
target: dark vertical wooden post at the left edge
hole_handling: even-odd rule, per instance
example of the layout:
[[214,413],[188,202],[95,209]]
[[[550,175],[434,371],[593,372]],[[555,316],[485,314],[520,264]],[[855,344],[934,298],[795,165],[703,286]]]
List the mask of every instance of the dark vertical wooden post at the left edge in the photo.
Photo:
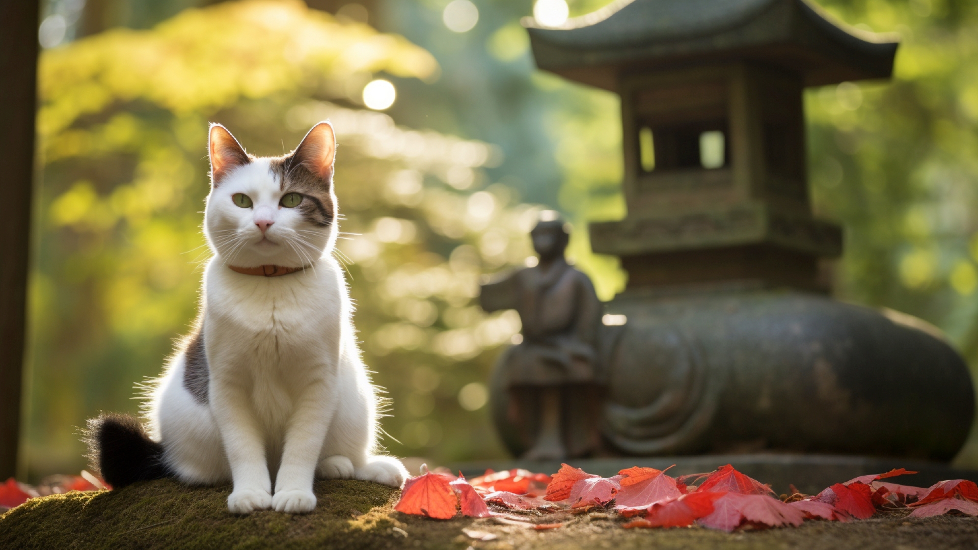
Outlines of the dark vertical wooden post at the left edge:
[[0,3],[0,481],[17,470],[37,94],[38,0]]

